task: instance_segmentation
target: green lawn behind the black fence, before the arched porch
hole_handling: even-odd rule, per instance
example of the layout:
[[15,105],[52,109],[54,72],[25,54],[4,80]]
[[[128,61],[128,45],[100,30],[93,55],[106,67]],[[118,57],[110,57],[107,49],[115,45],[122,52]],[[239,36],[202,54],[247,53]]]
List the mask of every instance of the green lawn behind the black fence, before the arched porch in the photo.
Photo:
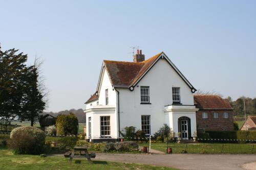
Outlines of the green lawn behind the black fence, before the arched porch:
[[[173,153],[191,154],[256,154],[255,143],[171,143]],[[166,153],[166,143],[152,143],[151,148]]]

